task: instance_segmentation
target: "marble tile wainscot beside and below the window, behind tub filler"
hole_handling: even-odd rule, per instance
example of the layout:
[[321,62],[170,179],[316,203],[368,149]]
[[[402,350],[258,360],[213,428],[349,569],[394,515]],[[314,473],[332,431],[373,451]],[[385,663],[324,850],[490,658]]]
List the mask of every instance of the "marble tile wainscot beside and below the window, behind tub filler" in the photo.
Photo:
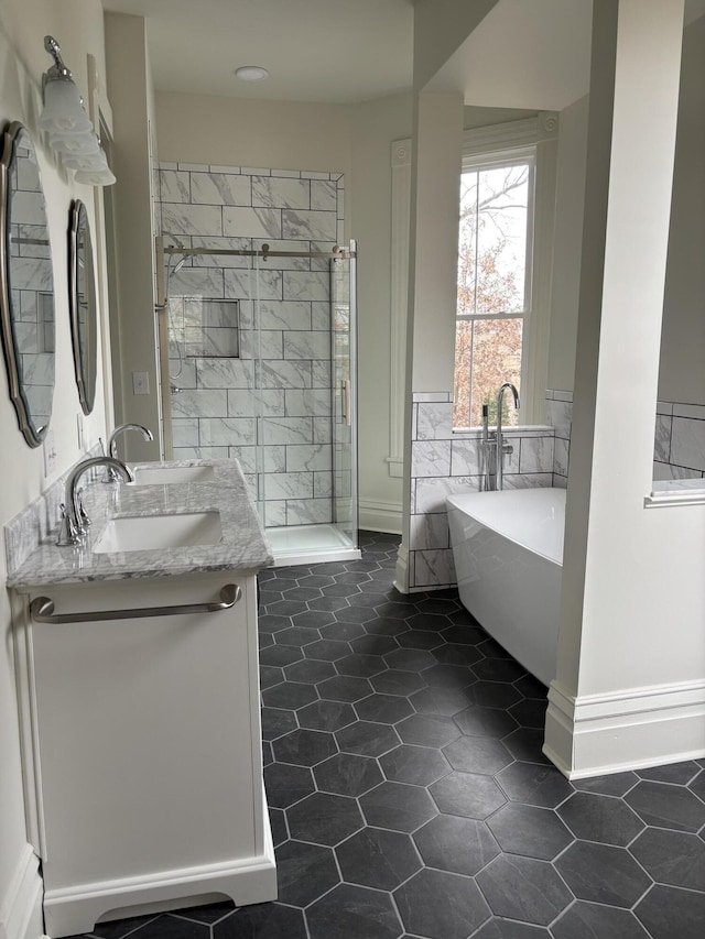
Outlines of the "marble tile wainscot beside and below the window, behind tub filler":
[[[448,392],[413,395],[409,539],[413,592],[456,583],[445,498],[480,488],[480,430],[454,433],[452,415]],[[553,485],[554,428],[516,427],[506,434],[514,452],[505,465],[505,485]]]

